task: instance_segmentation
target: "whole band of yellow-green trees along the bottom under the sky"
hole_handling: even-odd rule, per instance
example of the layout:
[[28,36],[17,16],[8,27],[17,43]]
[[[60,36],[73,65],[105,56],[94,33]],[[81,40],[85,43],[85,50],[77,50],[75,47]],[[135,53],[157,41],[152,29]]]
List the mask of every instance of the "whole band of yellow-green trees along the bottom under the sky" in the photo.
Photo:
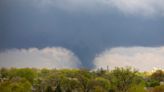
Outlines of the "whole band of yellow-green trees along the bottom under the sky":
[[164,71],[1,68],[0,92],[164,92]]

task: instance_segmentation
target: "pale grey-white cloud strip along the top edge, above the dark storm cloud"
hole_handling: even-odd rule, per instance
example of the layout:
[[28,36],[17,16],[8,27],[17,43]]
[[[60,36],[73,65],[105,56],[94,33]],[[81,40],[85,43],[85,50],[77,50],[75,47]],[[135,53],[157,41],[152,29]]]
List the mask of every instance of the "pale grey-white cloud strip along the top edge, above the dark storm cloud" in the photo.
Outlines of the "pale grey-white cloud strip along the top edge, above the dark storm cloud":
[[[100,8],[110,12],[116,9],[132,15],[164,15],[164,0],[33,0],[39,6],[56,7],[64,10],[93,10]],[[100,9],[100,10],[101,10]]]

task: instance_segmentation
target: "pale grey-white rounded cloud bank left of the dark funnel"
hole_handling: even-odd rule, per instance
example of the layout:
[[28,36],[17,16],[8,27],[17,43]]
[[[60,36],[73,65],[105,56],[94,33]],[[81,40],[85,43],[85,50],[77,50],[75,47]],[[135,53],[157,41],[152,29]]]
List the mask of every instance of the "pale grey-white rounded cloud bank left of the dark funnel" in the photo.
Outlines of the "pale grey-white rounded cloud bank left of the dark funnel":
[[80,66],[78,57],[61,47],[11,49],[0,52],[0,67],[62,69]]

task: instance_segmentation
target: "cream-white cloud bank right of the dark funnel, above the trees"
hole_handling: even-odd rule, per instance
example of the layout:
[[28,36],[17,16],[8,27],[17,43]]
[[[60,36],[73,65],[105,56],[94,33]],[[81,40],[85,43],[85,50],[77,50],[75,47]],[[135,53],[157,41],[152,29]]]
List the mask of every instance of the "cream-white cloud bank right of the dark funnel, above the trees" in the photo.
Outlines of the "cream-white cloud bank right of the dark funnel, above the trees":
[[94,59],[95,69],[131,66],[140,71],[164,68],[164,47],[117,47]]

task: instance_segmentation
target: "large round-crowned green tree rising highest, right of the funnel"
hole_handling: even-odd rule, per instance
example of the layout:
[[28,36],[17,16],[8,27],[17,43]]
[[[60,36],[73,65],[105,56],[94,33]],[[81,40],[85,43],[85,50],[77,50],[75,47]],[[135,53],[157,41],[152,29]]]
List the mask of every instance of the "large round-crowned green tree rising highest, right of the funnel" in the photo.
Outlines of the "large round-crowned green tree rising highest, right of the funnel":
[[137,71],[131,68],[115,68],[111,71],[109,80],[116,92],[127,92],[134,82],[137,83]]

